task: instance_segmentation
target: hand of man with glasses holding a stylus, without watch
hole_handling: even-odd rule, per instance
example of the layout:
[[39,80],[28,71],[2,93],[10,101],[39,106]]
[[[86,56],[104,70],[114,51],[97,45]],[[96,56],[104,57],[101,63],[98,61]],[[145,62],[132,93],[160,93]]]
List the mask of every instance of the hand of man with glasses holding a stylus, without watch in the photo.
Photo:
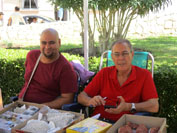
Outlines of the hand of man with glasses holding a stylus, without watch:
[[90,106],[96,107],[96,106],[100,106],[100,105],[105,105],[105,100],[104,98],[102,98],[100,95],[98,96],[94,96],[93,98],[91,98],[88,102],[88,104]]

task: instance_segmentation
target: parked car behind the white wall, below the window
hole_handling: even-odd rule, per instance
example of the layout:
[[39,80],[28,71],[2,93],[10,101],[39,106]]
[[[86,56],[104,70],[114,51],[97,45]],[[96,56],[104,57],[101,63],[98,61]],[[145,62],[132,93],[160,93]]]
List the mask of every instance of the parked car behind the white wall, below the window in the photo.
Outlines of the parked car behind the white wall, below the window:
[[46,16],[38,16],[38,15],[24,15],[23,16],[26,24],[31,23],[48,23],[48,22],[54,22],[55,20]]

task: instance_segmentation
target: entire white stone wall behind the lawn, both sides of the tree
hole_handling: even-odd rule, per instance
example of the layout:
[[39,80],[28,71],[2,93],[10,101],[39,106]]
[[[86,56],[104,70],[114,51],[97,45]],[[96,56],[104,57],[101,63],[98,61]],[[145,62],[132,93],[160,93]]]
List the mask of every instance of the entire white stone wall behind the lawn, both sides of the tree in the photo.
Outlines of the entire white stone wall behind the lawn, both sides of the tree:
[[[9,0],[10,1],[10,0]],[[42,2],[41,5],[44,3]],[[133,20],[127,37],[152,37],[152,36],[177,36],[177,1],[169,5],[165,10]],[[40,7],[41,12],[46,13],[45,6]],[[81,43],[81,27],[77,18],[71,17],[72,21],[60,21],[55,23],[26,25],[18,27],[0,27],[0,41],[13,42],[18,45],[36,44],[42,30],[52,27],[61,34],[62,42]],[[74,19],[75,18],[75,19]],[[18,41],[17,41],[18,40]]]

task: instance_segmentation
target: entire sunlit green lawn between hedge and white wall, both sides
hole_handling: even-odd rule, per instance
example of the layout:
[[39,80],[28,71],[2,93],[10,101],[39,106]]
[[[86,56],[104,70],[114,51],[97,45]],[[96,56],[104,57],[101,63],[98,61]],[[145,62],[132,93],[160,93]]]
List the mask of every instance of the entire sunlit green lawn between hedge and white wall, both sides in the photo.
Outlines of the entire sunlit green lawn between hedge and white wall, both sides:
[[[177,37],[157,37],[145,39],[130,39],[133,47],[143,51],[149,51],[155,57],[155,64],[177,65]],[[62,44],[60,51],[81,48],[78,44]],[[11,56],[11,58],[21,58],[22,53],[27,53],[31,49],[39,49],[39,46],[28,46],[22,49],[0,49],[0,58]],[[6,52],[5,52],[6,51]],[[13,53],[17,53],[15,56]],[[25,58],[23,56],[23,58]]]

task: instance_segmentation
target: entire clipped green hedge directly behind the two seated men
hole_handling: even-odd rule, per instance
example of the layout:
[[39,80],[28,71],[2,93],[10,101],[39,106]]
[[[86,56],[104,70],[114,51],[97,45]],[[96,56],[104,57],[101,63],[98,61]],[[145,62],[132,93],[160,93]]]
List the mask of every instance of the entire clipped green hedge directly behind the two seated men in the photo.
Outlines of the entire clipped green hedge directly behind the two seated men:
[[[84,58],[76,55],[64,53],[69,60],[80,60],[84,63]],[[100,58],[90,57],[89,68],[97,72]],[[11,96],[18,94],[24,83],[24,58],[16,60],[0,59],[0,88],[5,104],[9,103]],[[158,117],[167,118],[168,132],[177,131],[177,67],[161,65],[156,66],[154,81],[157,87],[160,103],[160,111],[155,114]]]

